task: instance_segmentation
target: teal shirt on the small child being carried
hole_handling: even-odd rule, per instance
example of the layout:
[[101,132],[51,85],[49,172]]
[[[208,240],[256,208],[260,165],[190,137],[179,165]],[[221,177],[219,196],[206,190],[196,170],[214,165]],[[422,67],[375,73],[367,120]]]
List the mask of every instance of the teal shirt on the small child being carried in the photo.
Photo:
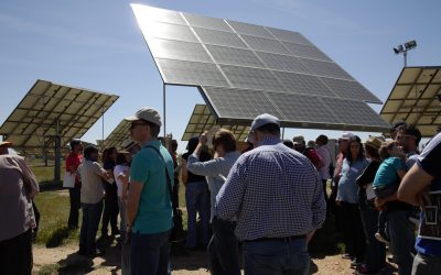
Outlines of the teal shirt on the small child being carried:
[[399,180],[398,170],[405,170],[405,165],[399,157],[388,157],[383,161],[377,174],[375,174],[374,188],[385,188],[397,185]]

